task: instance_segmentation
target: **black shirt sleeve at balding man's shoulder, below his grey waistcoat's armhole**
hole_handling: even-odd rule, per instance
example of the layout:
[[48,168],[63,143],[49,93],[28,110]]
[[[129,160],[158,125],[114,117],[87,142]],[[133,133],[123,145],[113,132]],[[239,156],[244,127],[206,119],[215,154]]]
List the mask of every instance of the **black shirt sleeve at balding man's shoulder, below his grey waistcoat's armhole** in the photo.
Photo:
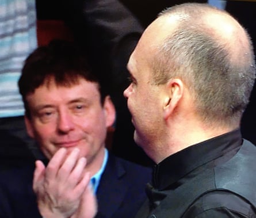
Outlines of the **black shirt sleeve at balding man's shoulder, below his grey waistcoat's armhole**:
[[255,207],[249,201],[228,190],[213,190],[202,194],[184,213],[192,217],[256,217]]

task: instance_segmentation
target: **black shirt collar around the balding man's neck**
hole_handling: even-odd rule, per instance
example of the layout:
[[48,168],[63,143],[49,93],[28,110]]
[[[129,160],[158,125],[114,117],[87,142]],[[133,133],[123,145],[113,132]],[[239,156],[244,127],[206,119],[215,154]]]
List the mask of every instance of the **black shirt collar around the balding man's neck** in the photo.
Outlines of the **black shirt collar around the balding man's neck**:
[[239,148],[241,144],[240,129],[236,129],[170,155],[155,165],[153,186],[158,190],[163,190],[197,167],[206,163],[215,164],[215,160],[220,160],[221,156],[233,154],[234,149]]

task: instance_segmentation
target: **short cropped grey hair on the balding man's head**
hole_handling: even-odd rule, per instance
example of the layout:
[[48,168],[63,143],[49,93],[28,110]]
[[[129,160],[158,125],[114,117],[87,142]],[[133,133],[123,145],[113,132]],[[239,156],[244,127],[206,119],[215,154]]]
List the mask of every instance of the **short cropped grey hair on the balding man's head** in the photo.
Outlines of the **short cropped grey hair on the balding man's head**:
[[238,124],[254,85],[253,46],[244,30],[248,46],[239,49],[238,55],[245,58],[234,60],[228,41],[218,40],[201,22],[201,15],[207,10],[226,13],[207,4],[185,3],[159,15],[185,13],[188,18],[181,18],[178,28],[159,45],[151,62],[154,83],[181,78],[193,94],[197,112],[204,121]]

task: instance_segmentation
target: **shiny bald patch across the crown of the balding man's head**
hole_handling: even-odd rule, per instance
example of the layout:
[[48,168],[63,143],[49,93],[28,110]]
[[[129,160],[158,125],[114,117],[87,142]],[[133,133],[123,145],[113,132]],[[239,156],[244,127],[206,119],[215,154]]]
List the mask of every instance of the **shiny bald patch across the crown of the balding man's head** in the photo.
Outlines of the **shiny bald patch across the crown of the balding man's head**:
[[175,6],[159,14],[159,18],[176,20],[184,28],[189,26],[211,36],[219,44],[226,45],[234,60],[240,60],[244,49],[251,49],[250,39],[238,21],[227,12],[207,4],[187,3]]

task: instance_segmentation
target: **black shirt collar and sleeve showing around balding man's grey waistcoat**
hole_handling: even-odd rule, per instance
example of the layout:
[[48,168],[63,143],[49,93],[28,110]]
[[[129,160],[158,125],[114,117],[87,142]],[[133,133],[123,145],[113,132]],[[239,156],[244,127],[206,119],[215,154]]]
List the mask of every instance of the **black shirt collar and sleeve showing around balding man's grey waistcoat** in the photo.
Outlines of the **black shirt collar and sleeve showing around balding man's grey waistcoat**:
[[[193,179],[202,171],[213,169],[215,166],[230,160],[239,151],[242,141],[240,129],[236,129],[190,146],[156,165],[153,171],[152,186],[147,188],[149,211],[154,211],[161,204],[161,201],[168,194],[171,194],[172,190],[184,183],[189,183],[190,179]],[[148,209],[144,209],[145,213],[148,212]],[[189,209],[186,208],[185,211],[182,217],[186,218],[256,217],[255,209],[242,197],[235,196],[229,192],[218,191],[204,194],[204,196],[194,201]],[[165,212],[165,214],[168,213]],[[148,215],[136,217],[148,217]]]

